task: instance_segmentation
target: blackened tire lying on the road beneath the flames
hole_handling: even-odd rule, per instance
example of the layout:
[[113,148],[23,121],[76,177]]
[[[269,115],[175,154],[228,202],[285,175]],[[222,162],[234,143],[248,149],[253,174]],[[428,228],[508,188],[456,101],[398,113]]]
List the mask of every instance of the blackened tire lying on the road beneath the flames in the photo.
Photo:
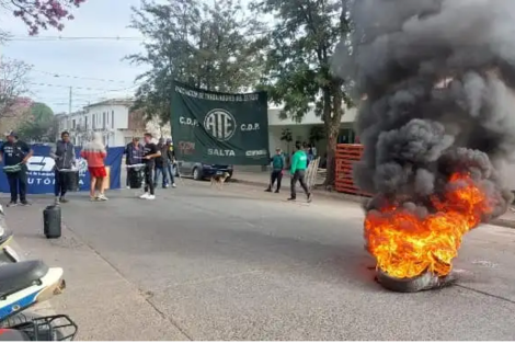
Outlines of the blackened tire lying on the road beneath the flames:
[[455,273],[450,273],[446,276],[436,276],[431,272],[425,272],[424,274],[412,278],[396,278],[389,276],[379,268],[377,270],[376,278],[382,287],[399,293],[438,289],[450,286],[457,279]]

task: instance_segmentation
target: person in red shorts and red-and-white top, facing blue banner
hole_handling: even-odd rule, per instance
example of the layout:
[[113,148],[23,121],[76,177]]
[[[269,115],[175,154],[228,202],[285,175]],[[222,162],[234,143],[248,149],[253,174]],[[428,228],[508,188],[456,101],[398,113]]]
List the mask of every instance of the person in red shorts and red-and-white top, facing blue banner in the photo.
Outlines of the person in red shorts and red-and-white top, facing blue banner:
[[[93,134],[93,140],[82,148],[80,156],[88,162],[88,171],[90,172],[90,199],[92,202],[107,201],[104,194],[104,179],[107,176],[104,159],[107,156],[107,150],[105,149],[100,133]],[[99,194],[96,194],[96,188],[99,190]]]

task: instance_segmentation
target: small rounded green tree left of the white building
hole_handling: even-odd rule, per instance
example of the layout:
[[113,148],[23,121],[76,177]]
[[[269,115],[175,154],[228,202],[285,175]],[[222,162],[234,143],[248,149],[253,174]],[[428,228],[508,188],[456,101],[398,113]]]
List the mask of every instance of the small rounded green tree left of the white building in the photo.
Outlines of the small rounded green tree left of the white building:
[[55,141],[56,123],[52,108],[44,103],[35,102],[31,106],[30,119],[18,127],[18,134],[30,141]]

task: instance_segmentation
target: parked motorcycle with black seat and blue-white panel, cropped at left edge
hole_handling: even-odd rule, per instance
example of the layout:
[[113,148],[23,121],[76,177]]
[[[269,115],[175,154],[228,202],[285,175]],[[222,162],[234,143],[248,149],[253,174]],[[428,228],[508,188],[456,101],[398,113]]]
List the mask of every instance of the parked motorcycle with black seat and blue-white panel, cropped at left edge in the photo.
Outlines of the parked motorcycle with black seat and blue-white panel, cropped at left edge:
[[62,268],[49,267],[41,260],[23,261],[5,228],[0,206],[0,341],[72,341],[78,325],[68,316],[26,311],[64,291]]

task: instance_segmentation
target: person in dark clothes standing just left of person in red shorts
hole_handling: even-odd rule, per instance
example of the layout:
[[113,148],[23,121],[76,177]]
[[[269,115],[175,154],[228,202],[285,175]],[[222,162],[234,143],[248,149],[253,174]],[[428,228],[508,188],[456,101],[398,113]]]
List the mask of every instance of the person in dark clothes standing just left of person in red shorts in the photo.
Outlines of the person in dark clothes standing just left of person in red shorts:
[[68,191],[69,172],[61,170],[70,170],[76,165],[76,151],[73,144],[70,141],[70,134],[62,132],[60,140],[57,141],[56,147],[52,149],[50,157],[56,161],[55,165],[55,183],[54,195],[56,196],[56,204],[68,203],[65,198],[66,191]]

